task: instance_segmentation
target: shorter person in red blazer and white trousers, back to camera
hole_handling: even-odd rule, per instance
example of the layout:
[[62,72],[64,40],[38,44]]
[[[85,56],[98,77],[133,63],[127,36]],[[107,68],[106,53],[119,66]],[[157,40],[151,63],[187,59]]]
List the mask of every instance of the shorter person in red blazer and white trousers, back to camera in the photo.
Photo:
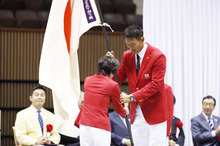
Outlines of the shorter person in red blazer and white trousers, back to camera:
[[108,106],[112,103],[116,113],[126,116],[120,102],[120,89],[111,78],[116,73],[119,61],[103,56],[98,62],[97,74],[85,78],[84,103],[75,121],[80,127],[81,146],[110,146],[111,128]]

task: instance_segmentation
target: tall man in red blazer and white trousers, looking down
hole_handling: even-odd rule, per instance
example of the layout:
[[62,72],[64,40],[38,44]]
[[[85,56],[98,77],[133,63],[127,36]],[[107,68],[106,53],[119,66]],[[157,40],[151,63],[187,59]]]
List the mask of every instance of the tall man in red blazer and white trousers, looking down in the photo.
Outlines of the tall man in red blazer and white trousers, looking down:
[[[122,103],[131,102],[131,129],[135,146],[167,145],[167,99],[164,87],[166,57],[145,43],[138,25],[125,29],[125,51],[117,72],[119,84],[128,79],[130,95],[121,95]],[[107,56],[113,56],[108,52]],[[137,56],[138,55],[138,56]]]

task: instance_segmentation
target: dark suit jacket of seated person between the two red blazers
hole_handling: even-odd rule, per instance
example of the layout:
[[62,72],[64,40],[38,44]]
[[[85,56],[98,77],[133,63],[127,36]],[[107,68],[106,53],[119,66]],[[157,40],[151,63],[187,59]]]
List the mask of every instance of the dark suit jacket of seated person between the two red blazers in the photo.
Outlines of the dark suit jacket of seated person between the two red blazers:
[[[129,115],[128,118],[130,119]],[[129,139],[127,127],[115,112],[109,113],[109,119],[111,125],[111,146],[124,146],[124,144],[121,144],[122,139]]]

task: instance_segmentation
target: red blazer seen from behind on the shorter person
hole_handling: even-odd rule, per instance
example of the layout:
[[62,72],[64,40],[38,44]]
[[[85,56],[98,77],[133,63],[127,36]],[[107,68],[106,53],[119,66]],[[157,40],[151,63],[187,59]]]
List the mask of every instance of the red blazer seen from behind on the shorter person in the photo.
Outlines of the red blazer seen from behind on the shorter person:
[[120,100],[118,84],[103,74],[87,77],[84,81],[84,103],[75,121],[79,124],[111,131],[108,106],[112,103],[114,110],[125,117],[126,110]]

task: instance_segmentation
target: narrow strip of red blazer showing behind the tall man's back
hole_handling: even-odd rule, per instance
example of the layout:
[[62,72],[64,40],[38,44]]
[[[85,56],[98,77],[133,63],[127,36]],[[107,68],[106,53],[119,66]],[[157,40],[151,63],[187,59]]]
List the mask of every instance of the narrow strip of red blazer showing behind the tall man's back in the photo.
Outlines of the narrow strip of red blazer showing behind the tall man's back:
[[168,119],[167,119],[167,136],[170,135],[170,128],[173,121],[173,91],[172,88],[165,84],[166,96],[167,96],[167,107],[168,107]]

